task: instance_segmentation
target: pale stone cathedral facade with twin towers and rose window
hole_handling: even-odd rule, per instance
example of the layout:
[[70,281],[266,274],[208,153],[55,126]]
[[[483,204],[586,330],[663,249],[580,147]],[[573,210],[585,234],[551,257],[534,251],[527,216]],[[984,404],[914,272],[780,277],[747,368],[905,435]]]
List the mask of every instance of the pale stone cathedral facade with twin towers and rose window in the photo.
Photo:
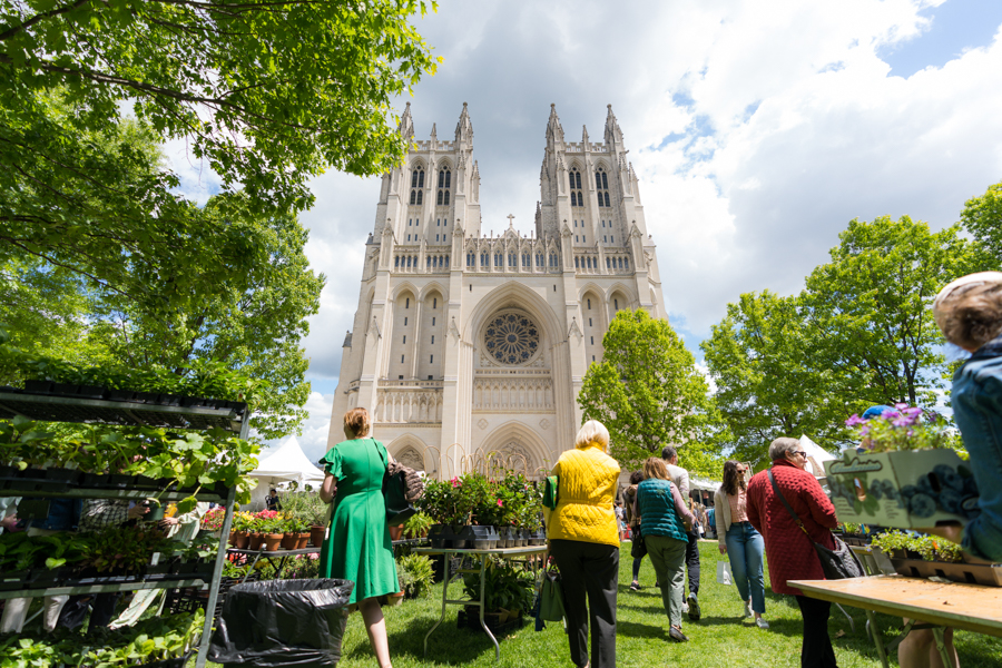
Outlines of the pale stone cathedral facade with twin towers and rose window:
[[[621,308],[666,317],[637,176],[609,107],[603,141],[566,141],[551,106],[536,225],[481,233],[466,105],[452,141],[414,140],[383,176],[328,446],[365,406],[373,435],[442,478],[491,461],[536,477],[573,448],[578,392]],[[497,453],[497,454],[491,454]]]

